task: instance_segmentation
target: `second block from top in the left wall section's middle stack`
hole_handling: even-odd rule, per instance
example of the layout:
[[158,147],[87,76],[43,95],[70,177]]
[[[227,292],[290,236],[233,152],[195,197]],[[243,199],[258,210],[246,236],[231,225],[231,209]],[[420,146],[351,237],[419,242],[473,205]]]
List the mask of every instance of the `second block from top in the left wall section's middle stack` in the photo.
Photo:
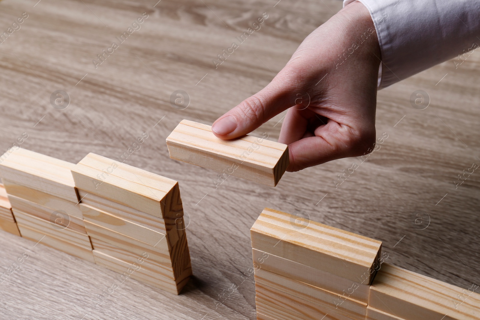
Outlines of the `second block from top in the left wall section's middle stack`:
[[3,180],[3,184],[5,185],[5,190],[7,190],[9,195],[35,202],[36,204],[40,204],[54,210],[63,210],[70,216],[83,219],[82,211],[80,210],[78,202],[72,202],[55,197],[51,194],[28,188],[24,185],[19,185],[5,179]]

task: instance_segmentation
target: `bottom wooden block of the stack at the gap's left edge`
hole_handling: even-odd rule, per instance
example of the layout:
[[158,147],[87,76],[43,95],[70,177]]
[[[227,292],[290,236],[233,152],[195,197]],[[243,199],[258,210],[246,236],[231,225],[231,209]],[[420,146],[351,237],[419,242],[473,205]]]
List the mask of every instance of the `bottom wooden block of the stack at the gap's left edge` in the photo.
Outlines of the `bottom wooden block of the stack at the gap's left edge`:
[[[187,284],[188,280],[190,279],[191,274],[186,273],[182,278],[179,278],[176,281],[170,280],[158,274],[146,271],[144,268],[142,268],[143,263],[137,263],[134,265],[126,261],[113,258],[100,251],[94,250],[93,252],[96,264],[106,267],[114,272],[121,273],[125,278],[130,277],[143,282],[144,284],[149,284],[165,290],[174,295],[179,295],[183,286]],[[140,256],[140,258],[142,258],[142,256]]]

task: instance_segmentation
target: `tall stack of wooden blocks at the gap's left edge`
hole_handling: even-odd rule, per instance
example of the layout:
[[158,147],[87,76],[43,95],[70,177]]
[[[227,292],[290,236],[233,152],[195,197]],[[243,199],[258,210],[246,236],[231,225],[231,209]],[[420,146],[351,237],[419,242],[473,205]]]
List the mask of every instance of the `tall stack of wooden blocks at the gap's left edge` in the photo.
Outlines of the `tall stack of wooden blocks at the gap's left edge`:
[[96,154],[72,175],[95,263],[179,294],[192,267],[178,182]]

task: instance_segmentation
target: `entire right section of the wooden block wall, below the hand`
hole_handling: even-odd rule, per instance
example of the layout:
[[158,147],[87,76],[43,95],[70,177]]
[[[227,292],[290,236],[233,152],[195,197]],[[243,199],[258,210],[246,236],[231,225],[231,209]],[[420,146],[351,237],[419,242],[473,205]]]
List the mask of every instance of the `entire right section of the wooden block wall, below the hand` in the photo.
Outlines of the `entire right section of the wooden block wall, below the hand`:
[[251,229],[258,320],[478,320],[480,295],[383,263],[380,241],[264,209]]

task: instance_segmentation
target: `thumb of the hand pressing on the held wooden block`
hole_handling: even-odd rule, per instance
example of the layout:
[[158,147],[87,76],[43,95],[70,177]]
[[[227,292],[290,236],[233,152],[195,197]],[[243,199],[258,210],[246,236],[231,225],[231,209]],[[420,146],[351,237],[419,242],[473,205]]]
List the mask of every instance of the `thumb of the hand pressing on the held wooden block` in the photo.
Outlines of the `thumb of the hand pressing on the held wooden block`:
[[291,85],[287,81],[274,80],[255,95],[242,101],[212,125],[213,133],[221,139],[243,136],[295,105]]

